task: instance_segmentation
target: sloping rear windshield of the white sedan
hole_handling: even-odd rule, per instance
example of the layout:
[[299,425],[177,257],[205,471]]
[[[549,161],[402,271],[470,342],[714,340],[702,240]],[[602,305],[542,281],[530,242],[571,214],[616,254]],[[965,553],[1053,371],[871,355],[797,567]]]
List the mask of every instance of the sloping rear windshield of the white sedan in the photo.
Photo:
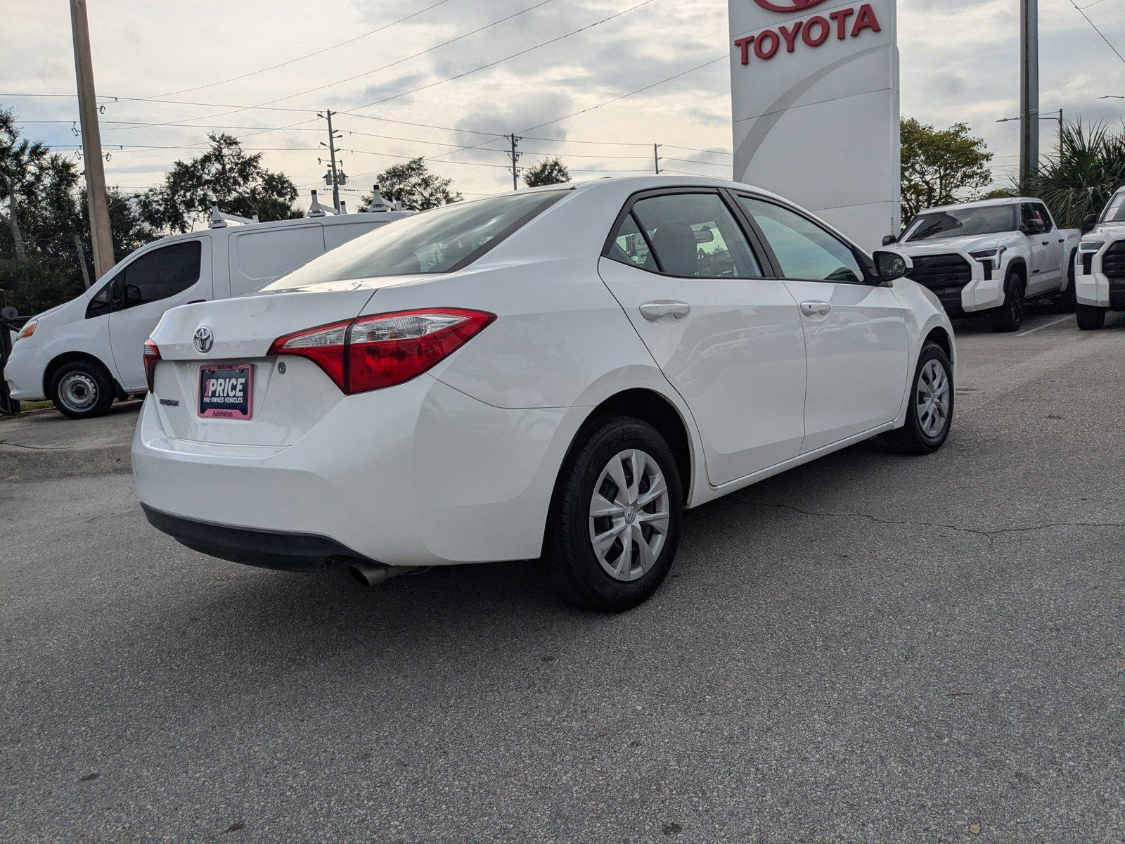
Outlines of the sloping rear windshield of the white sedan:
[[567,192],[518,192],[433,208],[388,223],[325,252],[261,289],[286,290],[352,278],[452,272],[472,263]]

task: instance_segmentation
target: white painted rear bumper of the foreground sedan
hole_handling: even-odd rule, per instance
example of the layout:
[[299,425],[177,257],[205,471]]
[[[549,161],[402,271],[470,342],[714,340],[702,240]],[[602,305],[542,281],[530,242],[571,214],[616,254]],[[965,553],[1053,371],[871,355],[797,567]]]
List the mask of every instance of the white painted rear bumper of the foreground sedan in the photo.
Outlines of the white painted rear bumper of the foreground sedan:
[[[493,407],[423,375],[349,396],[295,443],[262,447],[172,439],[156,410],[150,395],[134,436],[137,493],[179,521],[153,523],[225,559],[279,558],[272,567],[538,557],[558,467],[588,412]],[[183,521],[235,532],[208,539]],[[296,563],[273,547],[279,535],[299,538]]]

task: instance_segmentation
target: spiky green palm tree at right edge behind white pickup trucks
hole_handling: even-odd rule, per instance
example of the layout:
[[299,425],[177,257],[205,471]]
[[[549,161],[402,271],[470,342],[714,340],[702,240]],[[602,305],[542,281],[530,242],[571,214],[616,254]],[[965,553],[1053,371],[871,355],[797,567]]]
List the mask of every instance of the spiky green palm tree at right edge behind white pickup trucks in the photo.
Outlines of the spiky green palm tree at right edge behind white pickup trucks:
[[1106,124],[1064,125],[1054,152],[1040,162],[1029,183],[1016,187],[1045,201],[1059,225],[1077,228],[1125,185],[1125,124],[1116,129]]

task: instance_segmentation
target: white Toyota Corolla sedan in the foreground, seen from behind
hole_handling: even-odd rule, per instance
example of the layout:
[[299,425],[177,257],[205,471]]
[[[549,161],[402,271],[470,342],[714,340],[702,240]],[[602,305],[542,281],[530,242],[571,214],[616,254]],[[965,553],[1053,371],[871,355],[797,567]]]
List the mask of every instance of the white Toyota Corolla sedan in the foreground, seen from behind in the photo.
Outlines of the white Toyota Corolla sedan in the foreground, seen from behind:
[[458,203],[169,311],[133,443],[184,545],[372,583],[541,558],[575,604],[668,574],[681,514],[953,419],[938,300],[784,199],[641,177]]

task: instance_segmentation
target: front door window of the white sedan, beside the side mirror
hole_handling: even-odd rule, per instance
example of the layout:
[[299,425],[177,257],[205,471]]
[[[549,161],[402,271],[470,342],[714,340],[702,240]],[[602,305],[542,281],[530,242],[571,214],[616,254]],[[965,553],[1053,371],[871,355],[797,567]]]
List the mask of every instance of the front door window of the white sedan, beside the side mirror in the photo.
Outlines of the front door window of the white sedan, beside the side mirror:
[[738,201],[762,230],[785,278],[863,281],[855,252],[836,235],[780,205],[746,196]]

